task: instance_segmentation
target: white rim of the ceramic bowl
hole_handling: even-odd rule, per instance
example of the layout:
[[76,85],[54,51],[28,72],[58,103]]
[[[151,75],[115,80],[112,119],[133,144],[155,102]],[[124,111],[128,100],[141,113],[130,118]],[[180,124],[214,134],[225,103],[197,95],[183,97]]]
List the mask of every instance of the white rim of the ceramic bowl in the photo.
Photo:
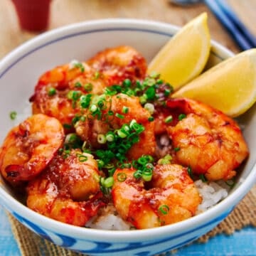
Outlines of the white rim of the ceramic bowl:
[[[72,32],[72,35],[78,33],[79,31],[85,31],[89,28],[97,28],[103,27],[107,28],[108,26],[115,26],[122,30],[122,28],[126,28],[129,26],[130,28],[136,28],[137,26],[141,26],[144,28],[149,28],[149,32],[153,30],[160,31],[159,33],[163,34],[163,31],[171,30],[176,33],[180,27],[161,22],[161,21],[150,21],[150,20],[142,20],[137,18],[103,18],[92,21],[83,21],[79,23],[73,23],[67,26],[62,26],[60,28],[55,28],[51,31],[42,33],[35,38],[30,39],[26,43],[23,43],[21,46],[18,46],[16,49],[12,50],[8,55],[6,55],[0,62],[0,79],[1,76],[4,75],[8,70],[4,69],[4,67],[8,67],[9,64],[14,60],[19,60],[21,56],[28,53],[30,48],[33,50],[37,49],[39,46],[46,45],[47,42],[54,41],[57,38],[63,37],[65,35]],[[166,33],[168,35],[168,33]],[[213,40],[211,40],[211,44],[213,46],[213,50],[216,49],[218,52],[220,51],[225,57],[228,58],[233,55],[233,53],[220,45]],[[16,62],[14,62],[14,65]],[[199,215],[193,216],[188,220],[183,220],[179,223],[174,223],[171,225],[161,226],[158,228],[149,228],[146,230],[97,230],[90,228],[82,228],[76,227],[74,225],[69,225],[66,223],[60,223],[57,220],[53,220],[46,216],[43,216],[39,213],[34,212],[33,210],[27,208],[22,203],[13,198],[9,193],[4,191],[3,188],[0,187],[0,198],[2,201],[6,203],[6,206],[9,206],[11,210],[15,213],[18,213],[23,218],[28,218],[29,220],[33,220],[37,225],[42,225],[49,231],[62,233],[65,235],[72,235],[75,238],[87,238],[88,240],[105,240],[112,242],[127,242],[129,241],[137,241],[138,235],[142,240],[157,240],[157,238],[161,239],[164,237],[168,237],[170,234],[186,234],[186,230],[193,230],[198,226],[202,226],[204,223],[212,222],[214,220],[216,222],[220,222],[225,216],[224,214],[220,216],[220,213],[225,213],[227,215],[230,210],[245,196],[245,194],[250,191],[250,188],[254,185],[256,180],[256,164],[252,167],[250,174],[248,174],[247,178],[243,183],[235,188],[235,190],[230,193],[230,195],[225,198],[223,201],[218,203],[213,208],[206,210],[206,212],[201,213]],[[216,218],[218,216],[218,218]],[[54,227],[54,228],[52,228]],[[134,236],[136,234],[136,236]]]

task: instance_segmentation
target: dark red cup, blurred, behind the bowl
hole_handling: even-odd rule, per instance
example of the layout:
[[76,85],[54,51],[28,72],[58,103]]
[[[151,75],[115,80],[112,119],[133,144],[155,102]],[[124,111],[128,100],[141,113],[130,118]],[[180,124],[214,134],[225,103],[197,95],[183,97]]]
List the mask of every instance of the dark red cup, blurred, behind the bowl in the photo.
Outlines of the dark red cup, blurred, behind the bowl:
[[12,0],[21,28],[44,31],[48,27],[51,0]]

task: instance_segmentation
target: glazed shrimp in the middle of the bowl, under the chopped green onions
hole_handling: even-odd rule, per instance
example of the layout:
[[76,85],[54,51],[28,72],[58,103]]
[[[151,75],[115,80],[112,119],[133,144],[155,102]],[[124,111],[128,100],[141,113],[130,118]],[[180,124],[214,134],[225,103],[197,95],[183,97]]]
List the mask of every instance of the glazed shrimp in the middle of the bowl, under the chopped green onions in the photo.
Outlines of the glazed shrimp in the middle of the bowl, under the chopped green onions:
[[[124,108],[127,109],[127,113],[124,113]],[[112,112],[111,116],[107,116],[109,112]],[[90,110],[87,114],[90,114]],[[135,119],[144,126],[144,132],[140,134],[139,142],[129,149],[127,155],[130,159],[137,159],[143,154],[153,155],[156,148],[154,122],[149,122],[150,116],[149,111],[140,105],[138,97],[124,94],[107,96],[100,120],[95,117],[79,121],[75,124],[75,130],[82,140],[89,141],[92,146],[100,147],[102,145],[97,142],[99,134],[107,134],[108,131],[119,129],[123,124],[129,124]]]

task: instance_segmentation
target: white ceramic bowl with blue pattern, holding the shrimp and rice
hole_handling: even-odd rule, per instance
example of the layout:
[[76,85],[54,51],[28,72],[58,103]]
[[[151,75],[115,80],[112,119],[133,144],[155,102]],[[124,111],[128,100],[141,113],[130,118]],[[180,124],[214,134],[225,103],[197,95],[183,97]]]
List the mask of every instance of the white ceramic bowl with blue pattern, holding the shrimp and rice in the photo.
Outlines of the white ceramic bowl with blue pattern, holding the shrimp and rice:
[[[55,65],[70,60],[86,60],[107,47],[133,46],[146,60],[156,54],[178,28],[166,23],[131,19],[109,19],[78,23],[44,33],[18,47],[0,63],[0,113],[2,142],[14,122],[13,110],[21,116],[38,77]],[[210,63],[218,63],[232,55],[229,50],[212,42]],[[209,92],[210,93],[210,92]],[[250,157],[238,176],[238,183],[228,198],[205,213],[148,230],[107,231],[78,228],[60,223],[33,212],[14,196],[6,183],[0,183],[0,199],[9,212],[23,225],[56,245],[90,255],[154,255],[185,245],[200,237],[223,220],[250,190],[256,179],[256,109],[240,118],[245,125],[245,139]]]

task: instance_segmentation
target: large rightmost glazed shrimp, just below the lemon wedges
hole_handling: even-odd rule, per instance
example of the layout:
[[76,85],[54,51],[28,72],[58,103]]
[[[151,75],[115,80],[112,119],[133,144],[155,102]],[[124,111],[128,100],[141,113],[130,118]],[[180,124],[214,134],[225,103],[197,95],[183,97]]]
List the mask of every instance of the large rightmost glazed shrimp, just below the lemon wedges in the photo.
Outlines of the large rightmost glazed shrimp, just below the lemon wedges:
[[194,174],[204,174],[211,181],[233,178],[235,169],[248,156],[238,124],[195,100],[168,100],[166,106],[173,115],[167,132],[178,149],[178,163],[190,166]]

